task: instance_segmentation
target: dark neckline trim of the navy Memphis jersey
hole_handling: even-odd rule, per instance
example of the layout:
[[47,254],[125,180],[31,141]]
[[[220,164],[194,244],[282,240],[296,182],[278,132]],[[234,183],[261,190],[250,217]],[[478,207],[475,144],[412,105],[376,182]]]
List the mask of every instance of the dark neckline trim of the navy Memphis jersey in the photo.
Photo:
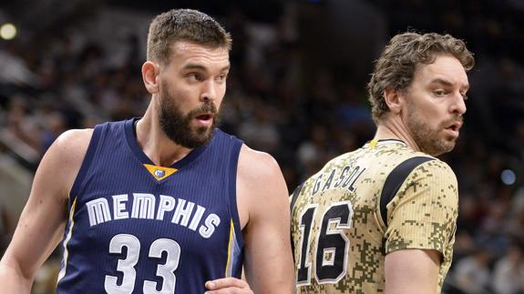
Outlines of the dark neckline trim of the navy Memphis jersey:
[[[135,154],[135,156],[137,158],[139,158],[139,161],[142,163],[142,164],[149,164],[149,165],[153,165],[153,166],[157,166],[145,153],[144,151],[142,150],[142,148],[139,146],[139,142],[137,141],[137,137],[135,137],[135,130],[134,130],[134,125],[135,123],[140,119],[141,117],[133,117],[131,119],[128,119],[126,122],[125,122],[125,125],[124,125],[124,132],[126,134],[126,140],[128,142],[128,147],[131,149],[131,151]],[[215,132],[215,130],[213,130],[213,132]],[[206,145],[203,145],[203,146],[200,146],[200,147],[196,147],[194,149],[192,149],[190,151],[190,153],[183,157],[182,159],[180,159],[179,161],[175,162],[174,164],[172,164],[170,167],[173,167],[173,168],[177,168],[177,169],[180,169],[181,167],[185,167],[187,166],[188,164],[190,164],[192,161],[194,161],[196,158],[198,158],[200,156],[200,154],[202,152],[204,152],[210,145],[211,143],[214,141],[214,135],[213,134],[213,137],[211,138],[211,142],[206,144]]]

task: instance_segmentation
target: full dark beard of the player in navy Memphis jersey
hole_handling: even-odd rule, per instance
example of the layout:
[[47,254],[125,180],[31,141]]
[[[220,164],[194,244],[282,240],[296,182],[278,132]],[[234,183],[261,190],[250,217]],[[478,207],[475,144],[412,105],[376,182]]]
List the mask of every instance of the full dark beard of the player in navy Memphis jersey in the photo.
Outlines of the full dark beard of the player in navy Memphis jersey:
[[[212,102],[206,102],[197,109],[193,109],[187,115],[180,111],[176,97],[171,96],[167,85],[162,86],[159,109],[159,123],[162,131],[171,141],[176,144],[194,148],[206,145],[213,137],[213,130],[218,124],[219,113]],[[191,127],[195,117],[203,113],[212,113],[213,121],[211,127]]]

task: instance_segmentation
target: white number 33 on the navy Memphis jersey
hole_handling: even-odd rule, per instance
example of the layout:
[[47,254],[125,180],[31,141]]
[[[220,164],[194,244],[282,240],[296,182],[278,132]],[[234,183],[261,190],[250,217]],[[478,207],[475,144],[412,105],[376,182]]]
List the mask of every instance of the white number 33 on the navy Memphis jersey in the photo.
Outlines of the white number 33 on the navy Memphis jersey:
[[[118,278],[106,275],[104,289],[109,294],[130,294],[135,288],[137,271],[135,266],[139,262],[140,241],[133,235],[118,234],[109,242],[109,253],[122,253],[127,248],[125,259],[118,259],[117,270],[123,274],[122,282],[118,284]],[[157,290],[157,282],[144,280],[142,292],[144,294],[169,294],[175,292],[176,277],[175,269],[179,267],[180,245],[169,238],[156,239],[149,247],[149,258],[160,259],[162,253],[166,252],[165,264],[157,267],[157,276],[163,279],[160,290]]]

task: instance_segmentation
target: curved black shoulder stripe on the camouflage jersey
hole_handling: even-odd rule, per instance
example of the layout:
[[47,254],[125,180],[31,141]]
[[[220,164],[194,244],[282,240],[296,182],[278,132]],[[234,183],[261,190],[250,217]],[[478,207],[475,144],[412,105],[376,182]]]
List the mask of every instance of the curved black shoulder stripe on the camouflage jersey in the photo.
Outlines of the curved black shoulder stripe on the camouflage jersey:
[[435,160],[433,157],[411,157],[406,159],[398,166],[396,166],[393,171],[385,178],[384,187],[382,188],[382,193],[380,195],[380,203],[378,214],[380,215],[379,220],[382,220],[382,226],[387,228],[387,205],[391,200],[396,196],[398,189],[404,184],[407,176],[421,164],[429,160]]

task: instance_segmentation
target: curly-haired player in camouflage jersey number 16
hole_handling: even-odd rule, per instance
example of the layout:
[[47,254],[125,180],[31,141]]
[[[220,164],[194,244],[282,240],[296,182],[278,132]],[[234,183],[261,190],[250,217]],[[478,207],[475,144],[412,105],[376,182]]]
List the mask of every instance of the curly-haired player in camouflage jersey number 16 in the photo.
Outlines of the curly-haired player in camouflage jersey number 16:
[[474,58],[451,35],[396,35],[369,82],[377,127],[295,190],[297,293],[440,293],[457,178],[436,157],[457,141]]

